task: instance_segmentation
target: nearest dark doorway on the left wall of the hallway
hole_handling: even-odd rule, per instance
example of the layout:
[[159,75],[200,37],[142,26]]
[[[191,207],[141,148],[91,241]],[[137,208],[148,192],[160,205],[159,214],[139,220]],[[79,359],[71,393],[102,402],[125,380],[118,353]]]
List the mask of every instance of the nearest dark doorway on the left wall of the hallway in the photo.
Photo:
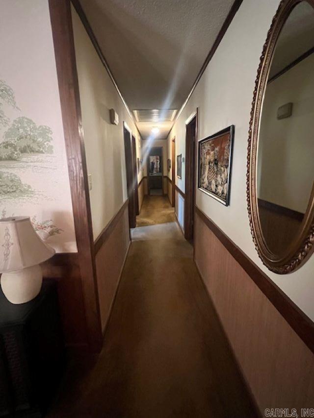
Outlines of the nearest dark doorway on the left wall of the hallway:
[[[129,198],[129,224],[130,228],[136,226],[136,193],[137,186],[136,176],[136,154],[134,157],[133,140],[131,136],[131,130],[128,125],[123,123],[123,135],[124,135],[124,149],[126,158],[126,172],[127,172],[127,188]],[[134,138],[135,143],[135,138]],[[136,150],[135,150],[136,151]],[[135,171],[134,171],[135,164]]]

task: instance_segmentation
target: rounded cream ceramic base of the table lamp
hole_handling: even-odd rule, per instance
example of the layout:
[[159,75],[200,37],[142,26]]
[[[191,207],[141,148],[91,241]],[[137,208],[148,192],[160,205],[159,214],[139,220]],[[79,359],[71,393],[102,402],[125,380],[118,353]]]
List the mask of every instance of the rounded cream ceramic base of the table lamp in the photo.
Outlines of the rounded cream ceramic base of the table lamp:
[[41,289],[43,273],[38,264],[23,270],[2,273],[1,288],[9,302],[18,305],[29,302]]

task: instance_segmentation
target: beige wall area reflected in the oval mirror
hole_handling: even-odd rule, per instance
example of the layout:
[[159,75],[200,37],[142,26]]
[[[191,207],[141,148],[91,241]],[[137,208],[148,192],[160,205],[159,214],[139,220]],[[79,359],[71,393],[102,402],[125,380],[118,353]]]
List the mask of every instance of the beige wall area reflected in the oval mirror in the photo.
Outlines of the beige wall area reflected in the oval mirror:
[[[314,54],[269,83],[259,143],[259,197],[305,213],[313,186]],[[292,115],[277,119],[278,107]]]

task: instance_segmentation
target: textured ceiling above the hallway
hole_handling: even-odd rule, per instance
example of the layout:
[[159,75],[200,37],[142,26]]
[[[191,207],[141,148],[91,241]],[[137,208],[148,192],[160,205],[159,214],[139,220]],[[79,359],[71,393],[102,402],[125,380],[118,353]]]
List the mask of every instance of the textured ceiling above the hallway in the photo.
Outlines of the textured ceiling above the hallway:
[[[180,109],[233,0],[80,3],[122,95],[134,110]],[[141,131],[141,123],[137,125]],[[160,129],[159,137],[167,133]]]

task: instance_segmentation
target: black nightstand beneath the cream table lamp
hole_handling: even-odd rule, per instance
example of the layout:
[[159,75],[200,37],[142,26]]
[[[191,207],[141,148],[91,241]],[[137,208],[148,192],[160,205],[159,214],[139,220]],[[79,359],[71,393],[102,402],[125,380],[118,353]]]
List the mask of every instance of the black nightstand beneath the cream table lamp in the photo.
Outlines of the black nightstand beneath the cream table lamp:
[[21,305],[0,290],[0,417],[41,417],[64,363],[56,282]]

